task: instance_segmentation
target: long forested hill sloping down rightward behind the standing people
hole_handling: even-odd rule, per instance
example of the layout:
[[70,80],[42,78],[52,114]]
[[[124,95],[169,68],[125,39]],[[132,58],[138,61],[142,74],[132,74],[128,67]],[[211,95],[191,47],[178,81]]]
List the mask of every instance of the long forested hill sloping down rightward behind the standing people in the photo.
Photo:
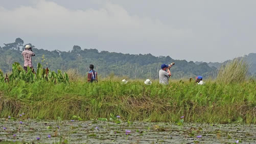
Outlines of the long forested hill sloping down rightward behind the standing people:
[[[13,62],[24,64],[21,52],[25,49],[26,44],[22,39],[17,38],[15,42],[4,44],[4,47],[0,47],[0,69],[4,73],[11,71]],[[207,77],[216,71],[215,67],[210,67],[207,63],[197,65],[193,61],[174,60],[169,56],[155,57],[151,54],[130,55],[107,51],[99,52],[96,49],[82,50],[78,45],[74,45],[73,50],[68,52],[48,51],[37,49],[36,46],[30,45],[36,54],[32,58],[34,67],[40,62],[44,67],[49,67],[51,70],[61,69],[66,71],[75,69],[77,74],[86,74],[89,64],[94,64],[95,69],[102,77],[107,77],[113,73],[127,78],[157,79],[160,65],[171,62],[176,63],[171,68],[172,78],[189,78],[197,75]]]

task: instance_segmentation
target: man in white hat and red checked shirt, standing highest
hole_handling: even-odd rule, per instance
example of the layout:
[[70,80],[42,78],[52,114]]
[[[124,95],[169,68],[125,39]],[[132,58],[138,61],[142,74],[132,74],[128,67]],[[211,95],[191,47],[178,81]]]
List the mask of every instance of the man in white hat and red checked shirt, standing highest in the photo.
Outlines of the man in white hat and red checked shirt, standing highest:
[[22,52],[22,56],[24,57],[24,69],[27,71],[28,67],[30,67],[34,73],[32,57],[34,57],[35,54],[33,53],[30,45],[26,45],[25,50]]

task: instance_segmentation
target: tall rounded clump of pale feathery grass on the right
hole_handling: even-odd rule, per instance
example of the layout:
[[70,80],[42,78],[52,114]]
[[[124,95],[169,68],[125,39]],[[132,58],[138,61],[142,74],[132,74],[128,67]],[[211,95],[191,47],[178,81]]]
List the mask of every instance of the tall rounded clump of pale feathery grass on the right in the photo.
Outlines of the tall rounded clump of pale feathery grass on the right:
[[244,82],[249,70],[249,64],[244,59],[234,59],[218,70],[216,81],[219,83]]

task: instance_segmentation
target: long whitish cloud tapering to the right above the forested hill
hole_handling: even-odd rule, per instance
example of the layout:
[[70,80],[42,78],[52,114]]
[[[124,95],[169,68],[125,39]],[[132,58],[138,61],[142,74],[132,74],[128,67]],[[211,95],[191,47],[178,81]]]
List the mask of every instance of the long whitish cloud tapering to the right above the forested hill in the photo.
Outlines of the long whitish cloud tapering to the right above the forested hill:
[[38,1],[35,7],[0,9],[0,30],[37,36],[97,36],[101,40],[161,40],[188,33],[159,20],[131,16],[119,5],[107,3],[99,10],[69,10],[54,2]]

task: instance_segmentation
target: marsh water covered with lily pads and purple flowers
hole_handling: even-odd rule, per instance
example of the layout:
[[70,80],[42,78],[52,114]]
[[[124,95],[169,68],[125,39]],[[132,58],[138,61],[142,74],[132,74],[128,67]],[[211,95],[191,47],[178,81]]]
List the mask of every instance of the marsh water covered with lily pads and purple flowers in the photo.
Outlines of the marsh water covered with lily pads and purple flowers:
[[[0,119],[0,141],[30,143],[256,143],[256,125]],[[5,130],[4,130],[5,129]],[[129,132],[130,131],[130,132]],[[13,136],[14,135],[14,136]],[[16,136],[15,136],[16,135]],[[37,138],[40,138],[37,140]]]

